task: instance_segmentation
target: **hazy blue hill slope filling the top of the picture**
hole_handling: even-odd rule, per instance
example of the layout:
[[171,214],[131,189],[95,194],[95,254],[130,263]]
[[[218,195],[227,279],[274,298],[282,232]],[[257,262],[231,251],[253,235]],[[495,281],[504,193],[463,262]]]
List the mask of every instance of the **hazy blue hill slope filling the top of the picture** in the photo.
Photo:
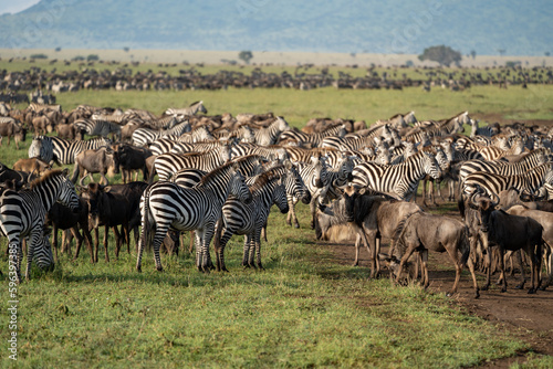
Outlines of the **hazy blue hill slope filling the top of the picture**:
[[547,0],[375,1],[42,0],[0,15],[0,48],[257,50],[542,56],[553,44]]

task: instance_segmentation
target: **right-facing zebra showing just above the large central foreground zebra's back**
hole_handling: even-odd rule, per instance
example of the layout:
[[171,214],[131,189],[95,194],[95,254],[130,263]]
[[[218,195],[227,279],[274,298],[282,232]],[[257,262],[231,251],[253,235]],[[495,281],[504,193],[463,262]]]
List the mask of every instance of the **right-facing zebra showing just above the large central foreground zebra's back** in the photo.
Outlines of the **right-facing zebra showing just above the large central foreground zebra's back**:
[[159,180],[168,180],[173,173],[185,168],[196,168],[206,171],[215,170],[217,167],[230,160],[230,157],[229,146],[220,146],[208,152],[168,152],[159,155],[154,160],[154,168]]

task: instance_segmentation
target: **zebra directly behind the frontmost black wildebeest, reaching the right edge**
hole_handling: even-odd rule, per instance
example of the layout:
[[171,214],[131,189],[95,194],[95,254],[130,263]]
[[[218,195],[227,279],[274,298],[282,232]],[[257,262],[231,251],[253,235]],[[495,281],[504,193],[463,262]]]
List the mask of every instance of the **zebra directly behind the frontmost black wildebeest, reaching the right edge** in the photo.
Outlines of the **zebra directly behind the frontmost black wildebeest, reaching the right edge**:
[[502,176],[486,171],[473,172],[463,182],[463,194],[471,196],[480,187],[488,196],[498,196],[499,192],[514,188],[519,193],[534,193],[545,183],[553,183],[553,162],[547,161],[524,173]]

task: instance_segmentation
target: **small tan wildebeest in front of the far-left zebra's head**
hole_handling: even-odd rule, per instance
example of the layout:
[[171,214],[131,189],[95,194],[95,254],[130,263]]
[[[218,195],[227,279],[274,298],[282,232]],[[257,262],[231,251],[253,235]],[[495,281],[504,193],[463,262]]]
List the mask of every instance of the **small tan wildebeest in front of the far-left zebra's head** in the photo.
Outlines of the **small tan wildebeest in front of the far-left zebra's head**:
[[93,173],[100,173],[105,180],[105,184],[108,184],[105,173],[107,173],[108,170],[113,170],[115,173],[119,172],[119,167],[116,161],[115,151],[109,147],[81,151],[75,157],[75,167],[71,181],[76,182],[79,173],[82,171],[83,177],[81,178],[81,184],[86,177],[91,176],[92,178]]

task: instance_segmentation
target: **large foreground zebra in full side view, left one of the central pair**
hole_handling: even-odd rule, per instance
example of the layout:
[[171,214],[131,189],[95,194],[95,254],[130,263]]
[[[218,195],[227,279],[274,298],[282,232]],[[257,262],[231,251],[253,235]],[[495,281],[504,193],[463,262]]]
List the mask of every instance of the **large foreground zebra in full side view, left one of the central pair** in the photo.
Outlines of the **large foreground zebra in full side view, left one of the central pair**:
[[138,242],[136,270],[142,271],[145,245],[153,243],[156,268],[163,271],[159,246],[169,228],[177,231],[196,231],[196,266],[209,272],[209,243],[216,222],[229,194],[246,203],[251,193],[244,177],[233,162],[226,164],[205,176],[194,188],[158,181],[148,186],[140,198],[142,234]]

